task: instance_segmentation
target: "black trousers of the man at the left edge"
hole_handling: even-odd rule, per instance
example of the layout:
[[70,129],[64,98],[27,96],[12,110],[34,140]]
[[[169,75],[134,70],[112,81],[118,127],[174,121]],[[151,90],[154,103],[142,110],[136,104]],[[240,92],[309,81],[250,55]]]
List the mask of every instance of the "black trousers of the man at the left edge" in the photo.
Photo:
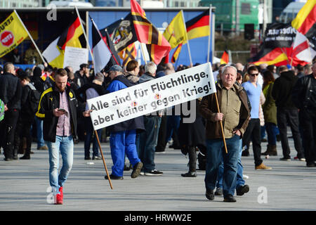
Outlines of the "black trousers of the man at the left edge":
[[5,158],[13,158],[13,143],[18,118],[19,110],[7,110],[4,114],[4,121],[1,127],[1,129],[3,129],[4,136],[1,136],[1,138],[4,137],[2,147],[4,148]]

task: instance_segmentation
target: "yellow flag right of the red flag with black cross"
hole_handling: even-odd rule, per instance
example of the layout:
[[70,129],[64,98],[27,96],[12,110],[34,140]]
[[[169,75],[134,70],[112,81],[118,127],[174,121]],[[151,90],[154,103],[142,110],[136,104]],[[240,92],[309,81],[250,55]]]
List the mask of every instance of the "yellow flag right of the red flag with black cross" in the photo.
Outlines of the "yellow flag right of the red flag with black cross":
[[171,45],[171,49],[187,42],[187,30],[185,29],[182,10],[171,20],[163,35]]

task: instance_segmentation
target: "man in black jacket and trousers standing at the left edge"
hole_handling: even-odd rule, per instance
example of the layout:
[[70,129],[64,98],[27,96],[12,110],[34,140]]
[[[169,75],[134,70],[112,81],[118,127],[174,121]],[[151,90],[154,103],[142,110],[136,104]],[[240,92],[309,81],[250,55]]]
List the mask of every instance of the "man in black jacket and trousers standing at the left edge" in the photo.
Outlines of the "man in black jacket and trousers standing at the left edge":
[[15,75],[12,63],[4,65],[4,75],[0,76],[0,99],[4,101],[6,113],[0,124],[1,146],[4,148],[4,160],[18,160],[18,149],[13,151],[13,142],[19,111],[21,109],[22,86]]

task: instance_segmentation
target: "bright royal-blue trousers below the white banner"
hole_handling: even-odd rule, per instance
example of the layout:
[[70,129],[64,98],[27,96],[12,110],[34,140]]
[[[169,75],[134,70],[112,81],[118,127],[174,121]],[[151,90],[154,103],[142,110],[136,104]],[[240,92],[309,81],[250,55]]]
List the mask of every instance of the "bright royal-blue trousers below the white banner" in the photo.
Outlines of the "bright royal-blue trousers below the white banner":
[[131,165],[140,162],[136,150],[136,130],[112,132],[110,134],[111,156],[113,161],[112,174],[123,176],[125,154]]

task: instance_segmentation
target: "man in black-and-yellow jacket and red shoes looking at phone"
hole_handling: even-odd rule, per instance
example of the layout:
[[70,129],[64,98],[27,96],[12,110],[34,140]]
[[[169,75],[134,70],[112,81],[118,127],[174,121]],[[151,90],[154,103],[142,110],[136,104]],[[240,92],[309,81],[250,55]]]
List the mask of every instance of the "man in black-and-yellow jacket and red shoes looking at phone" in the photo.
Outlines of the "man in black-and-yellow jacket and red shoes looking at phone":
[[[44,120],[44,140],[49,153],[49,183],[54,202],[62,205],[62,187],[72,169],[74,141],[77,137],[77,98],[67,86],[67,72],[58,69],[55,85],[41,94],[37,117]],[[59,153],[62,155],[62,168],[58,174]]]

